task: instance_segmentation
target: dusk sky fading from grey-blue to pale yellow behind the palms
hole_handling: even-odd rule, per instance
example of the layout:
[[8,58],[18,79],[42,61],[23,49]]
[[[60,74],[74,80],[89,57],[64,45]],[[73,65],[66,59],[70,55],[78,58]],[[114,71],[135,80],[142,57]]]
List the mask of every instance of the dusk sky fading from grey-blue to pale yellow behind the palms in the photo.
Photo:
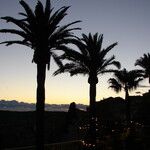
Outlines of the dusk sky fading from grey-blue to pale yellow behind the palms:
[[[45,0],[41,1],[45,3]],[[26,2],[34,9],[37,0]],[[82,28],[75,32],[77,36],[89,32],[104,34],[103,47],[118,42],[110,55],[116,56],[122,68],[135,69],[135,60],[150,52],[150,0],[52,0],[52,4],[55,10],[61,6],[71,6],[63,24],[82,20],[75,26]],[[0,17],[17,17],[21,11],[23,9],[18,0],[0,0]],[[12,27],[0,20],[1,29]],[[0,34],[0,42],[11,37]],[[28,47],[0,45],[0,99],[35,103],[36,65],[31,63],[32,57],[33,50]],[[69,104],[74,101],[88,104],[87,76],[70,77],[69,74],[61,74],[54,77],[52,73],[56,69],[52,61],[51,69],[47,71],[46,103]],[[99,76],[97,101],[110,96],[124,97],[124,92],[116,94],[108,89],[107,80],[111,76]],[[147,85],[147,81],[142,84]],[[144,93],[148,88],[138,88],[137,91]]]

